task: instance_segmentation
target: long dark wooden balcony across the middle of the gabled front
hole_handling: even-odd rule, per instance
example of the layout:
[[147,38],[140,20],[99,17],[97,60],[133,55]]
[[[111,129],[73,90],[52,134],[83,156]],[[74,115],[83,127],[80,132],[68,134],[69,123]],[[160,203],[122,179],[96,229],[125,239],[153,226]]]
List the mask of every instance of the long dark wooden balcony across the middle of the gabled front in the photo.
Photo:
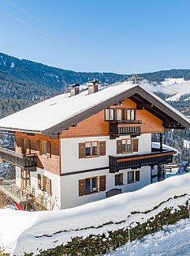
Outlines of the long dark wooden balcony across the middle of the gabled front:
[[131,156],[109,156],[110,172],[114,173],[128,168],[141,168],[145,165],[169,164],[172,163],[173,150],[162,152],[150,152]]

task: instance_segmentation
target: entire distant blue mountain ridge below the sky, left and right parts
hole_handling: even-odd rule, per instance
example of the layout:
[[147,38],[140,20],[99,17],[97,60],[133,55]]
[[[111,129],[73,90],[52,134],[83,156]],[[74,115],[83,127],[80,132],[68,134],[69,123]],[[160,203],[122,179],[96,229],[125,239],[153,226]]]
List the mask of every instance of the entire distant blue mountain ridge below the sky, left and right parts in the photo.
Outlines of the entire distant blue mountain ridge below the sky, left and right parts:
[[[39,62],[27,59],[15,58],[0,52],[0,73],[11,76],[30,85],[41,85],[47,88],[60,91],[70,84],[83,84],[94,77],[102,83],[113,84],[118,81],[125,81],[132,74],[105,73],[105,72],[77,72],[63,70],[54,66],[47,66]],[[184,78],[190,80],[190,70],[159,70],[148,73],[137,73],[148,81],[163,81],[165,78]],[[0,78],[0,82],[1,82]]]

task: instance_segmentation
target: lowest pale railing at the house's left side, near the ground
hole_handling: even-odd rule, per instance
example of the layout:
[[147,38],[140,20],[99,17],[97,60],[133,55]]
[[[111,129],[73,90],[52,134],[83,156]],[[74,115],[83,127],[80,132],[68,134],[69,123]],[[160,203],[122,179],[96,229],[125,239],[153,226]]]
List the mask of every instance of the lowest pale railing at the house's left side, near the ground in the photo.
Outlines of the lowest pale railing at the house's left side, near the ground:
[[20,187],[15,185],[14,180],[0,178],[0,190],[17,203],[26,203],[33,200],[33,195],[28,194],[26,190],[21,190]]

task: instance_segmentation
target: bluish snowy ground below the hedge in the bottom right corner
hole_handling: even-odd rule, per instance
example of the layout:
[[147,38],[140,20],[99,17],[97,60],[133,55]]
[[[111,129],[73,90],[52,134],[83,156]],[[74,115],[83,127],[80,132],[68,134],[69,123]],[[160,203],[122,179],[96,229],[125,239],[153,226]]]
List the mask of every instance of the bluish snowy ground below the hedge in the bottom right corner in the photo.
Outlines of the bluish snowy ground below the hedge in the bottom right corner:
[[144,236],[143,239],[127,243],[109,255],[190,255],[190,220],[180,220],[177,224],[167,226],[161,232],[155,232]]

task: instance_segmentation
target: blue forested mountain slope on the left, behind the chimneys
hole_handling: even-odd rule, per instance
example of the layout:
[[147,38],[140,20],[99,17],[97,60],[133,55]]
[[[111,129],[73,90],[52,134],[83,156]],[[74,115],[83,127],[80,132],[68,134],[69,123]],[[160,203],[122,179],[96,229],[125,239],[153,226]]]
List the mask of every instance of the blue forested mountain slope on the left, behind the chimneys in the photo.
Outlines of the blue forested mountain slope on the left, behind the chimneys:
[[16,77],[30,84],[43,85],[47,88],[61,90],[73,83],[82,84],[94,77],[102,83],[113,84],[116,81],[124,81],[125,76],[117,73],[86,73],[61,70],[52,66],[31,62],[25,59],[14,58],[0,53],[0,71],[4,74]]

